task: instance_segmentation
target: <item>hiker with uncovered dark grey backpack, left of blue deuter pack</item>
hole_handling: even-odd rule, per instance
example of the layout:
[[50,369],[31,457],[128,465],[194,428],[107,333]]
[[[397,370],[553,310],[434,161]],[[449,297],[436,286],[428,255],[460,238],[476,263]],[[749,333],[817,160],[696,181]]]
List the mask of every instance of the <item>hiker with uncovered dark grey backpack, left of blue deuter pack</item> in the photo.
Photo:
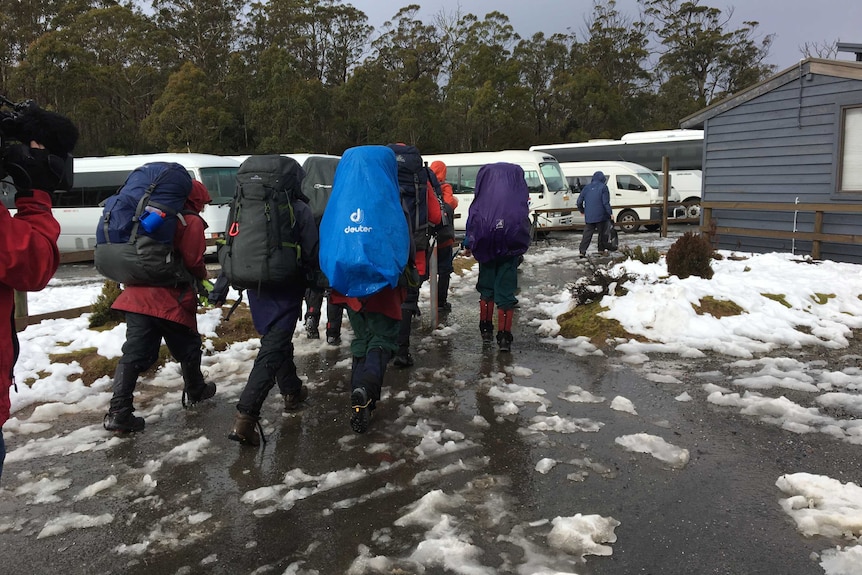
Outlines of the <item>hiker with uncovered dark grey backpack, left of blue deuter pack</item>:
[[320,284],[318,231],[302,193],[304,177],[293,158],[246,158],[237,171],[227,238],[218,252],[230,285],[248,293],[251,318],[261,335],[228,434],[243,445],[266,441],[261,410],[274,386],[286,412],[299,409],[308,398],[296,372],[292,343],[305,290]]

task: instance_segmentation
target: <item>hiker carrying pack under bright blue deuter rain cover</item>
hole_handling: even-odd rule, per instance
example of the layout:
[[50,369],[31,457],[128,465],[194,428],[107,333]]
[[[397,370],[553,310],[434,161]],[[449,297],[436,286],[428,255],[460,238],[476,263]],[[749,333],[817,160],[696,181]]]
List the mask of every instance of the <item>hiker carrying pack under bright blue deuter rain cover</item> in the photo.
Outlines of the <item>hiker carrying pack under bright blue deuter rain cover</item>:
[[332,301],[347,306],[353,328],[350,427],[356,433],[368,430],[386,365],[398,350],[405,286],[419,283],[405,214],[395,152],[348,149],[320,224],[320,266]]

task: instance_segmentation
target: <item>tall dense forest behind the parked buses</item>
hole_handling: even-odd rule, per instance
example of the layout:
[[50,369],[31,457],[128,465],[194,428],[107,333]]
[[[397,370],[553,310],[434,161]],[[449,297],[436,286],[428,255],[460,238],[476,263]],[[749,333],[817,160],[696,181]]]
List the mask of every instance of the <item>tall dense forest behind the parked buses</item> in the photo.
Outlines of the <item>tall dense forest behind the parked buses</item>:
[[442,153],[676,128],[774,72],[773,35],[732,8],[638,3],[524,38],[500,12],[416,4],[375,30],[340,0],[0,0],[0,94],[72,118],[79,157]]

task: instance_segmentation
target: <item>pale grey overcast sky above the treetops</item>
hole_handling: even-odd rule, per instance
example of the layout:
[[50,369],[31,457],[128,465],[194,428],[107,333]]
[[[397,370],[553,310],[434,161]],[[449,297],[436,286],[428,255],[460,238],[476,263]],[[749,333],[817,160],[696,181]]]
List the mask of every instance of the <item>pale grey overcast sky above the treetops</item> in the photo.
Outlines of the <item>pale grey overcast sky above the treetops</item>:
[[[411,3],[422,7],[420,17],[433,22],[433,15],[441,10],[454,13],[484,16],[497,10],[509,17],[522,37],[536,32],[550,35],[577,32],[584,38],[586,21],[592,14],[592,0],[345,0],[368,16],[369,22],[379,29],[401,8]],[[734,10],[732,27],[754,20],[760,23],[760,36],[775,34],[769,63],[776,71],[794,65],[802,57],[799,47],[808,43],[829,44],[833,41],[862,43],[862,0],[702,0],[702,5]],[[636,19],[639,14],[637,0],[617,0],[617,10]],[[852,60],[853,54],[841,53],[839,60]]]

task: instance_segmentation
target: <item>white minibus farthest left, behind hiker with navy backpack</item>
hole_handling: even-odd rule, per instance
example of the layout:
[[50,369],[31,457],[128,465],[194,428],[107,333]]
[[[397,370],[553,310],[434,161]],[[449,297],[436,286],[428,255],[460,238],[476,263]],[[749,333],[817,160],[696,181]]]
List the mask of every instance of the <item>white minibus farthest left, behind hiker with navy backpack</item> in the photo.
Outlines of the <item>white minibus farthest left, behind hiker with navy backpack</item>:
[[[209,154],[140,154],[75,158],[72,189],[54,194],[54,217],[60,222],[57,245],[61,252],[91,250],[96,246],[99,203],[113,195],[135,168],[149,162],[176,162],[209,190],[212,202],[201,212],[207,238],[224,236],[239,162]],[[207,253],[215,252],[209,246]]]

